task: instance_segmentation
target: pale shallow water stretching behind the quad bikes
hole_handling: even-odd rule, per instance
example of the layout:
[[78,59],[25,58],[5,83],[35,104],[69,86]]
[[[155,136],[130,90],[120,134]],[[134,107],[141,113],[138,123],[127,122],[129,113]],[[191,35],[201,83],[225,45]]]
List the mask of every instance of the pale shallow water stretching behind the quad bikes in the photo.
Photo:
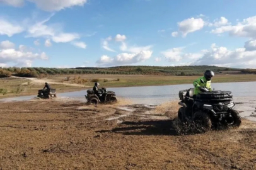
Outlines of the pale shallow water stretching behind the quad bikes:
[[[212,83],[216,90],[232,91],[238,110],[244,111],[243,116],[251,120],[256,118],[250,116],[256,107],[256,82],[224,82]],[[143,86],[129,88],[108,88],[108,91],[115,91],[117,98],[131,99],[137,104],[160,105],[166,101],[178,100],[178,91],[193,88],[192,84],[168,85],[168,86]],[[59,98],[71,98],[86,101],[84,95],[86,90],[69,93],[58,93]],[[36,96],[36,95],[35,95]],[[23,96],[17,98],[0,99],[0,101],[23,101],[35,98],[35,96]]]

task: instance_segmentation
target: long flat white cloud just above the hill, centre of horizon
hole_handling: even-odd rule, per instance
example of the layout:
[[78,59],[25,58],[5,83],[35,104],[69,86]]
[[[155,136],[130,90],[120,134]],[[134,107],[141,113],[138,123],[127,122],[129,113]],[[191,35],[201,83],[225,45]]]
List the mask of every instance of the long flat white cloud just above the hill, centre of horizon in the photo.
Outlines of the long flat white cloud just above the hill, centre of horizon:
[[141,51],[136,54],[122,53],[115,57],[108,57],[107,55],[103,55],[96,63],[100,66],[134,64],[148,60],[152,53],[152,51]]

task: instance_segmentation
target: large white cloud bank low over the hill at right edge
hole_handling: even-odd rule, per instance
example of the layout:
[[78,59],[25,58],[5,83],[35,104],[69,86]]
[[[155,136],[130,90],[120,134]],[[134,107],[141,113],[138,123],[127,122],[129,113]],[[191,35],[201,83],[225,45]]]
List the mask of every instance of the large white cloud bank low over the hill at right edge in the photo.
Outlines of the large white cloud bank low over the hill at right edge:
[[246,51],[245,48],[236,48],[228,50],[226,47],[217,47],[212,45],[201,59],[192,63],[192,65],[219,65],[241,68],[256,68],[256,50]]

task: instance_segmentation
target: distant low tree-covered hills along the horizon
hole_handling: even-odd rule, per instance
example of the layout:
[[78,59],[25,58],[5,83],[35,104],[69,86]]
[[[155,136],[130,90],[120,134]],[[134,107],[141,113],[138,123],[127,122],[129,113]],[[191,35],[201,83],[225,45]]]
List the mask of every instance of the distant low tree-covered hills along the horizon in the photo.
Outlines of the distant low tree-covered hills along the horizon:
[[47,74],[143,74],[143,75],[161,75],[161,76],[197,76],[202,75],[204,71],[211,69],[216,74],[255,74],[253,69],[235,69],[227,67],[216,67],[209,65],[197,66],[119,66],[119,67],[76,67],[69,69],[57,69],[47,67],[8,67],[0,68],[0,77],[10,75],[21,77],[38,77]]

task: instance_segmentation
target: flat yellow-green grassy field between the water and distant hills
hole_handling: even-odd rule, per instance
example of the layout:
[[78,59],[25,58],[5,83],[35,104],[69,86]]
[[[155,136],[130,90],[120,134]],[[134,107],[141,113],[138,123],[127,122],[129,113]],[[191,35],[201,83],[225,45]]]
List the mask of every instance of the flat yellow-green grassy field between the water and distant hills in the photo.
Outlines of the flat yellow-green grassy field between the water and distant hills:
[[[66,77],[69,77],[67,81]],[[12,96],[37,96],[38,89],[44,88],[44,82],[49,82],[57,93],[79,91],[93,88],[98,81],[100,87],[129,87],[129,86],[160,86],[171,84],[192,84],[199,76],[143,76],[143,75],[103,75],[103,74],[74,74],[56,75],[44,79],[5,78],[0,79],[2,94],[0,98]],[[247,82],[256,81],[255,74],[218,74],[212,82]]]

